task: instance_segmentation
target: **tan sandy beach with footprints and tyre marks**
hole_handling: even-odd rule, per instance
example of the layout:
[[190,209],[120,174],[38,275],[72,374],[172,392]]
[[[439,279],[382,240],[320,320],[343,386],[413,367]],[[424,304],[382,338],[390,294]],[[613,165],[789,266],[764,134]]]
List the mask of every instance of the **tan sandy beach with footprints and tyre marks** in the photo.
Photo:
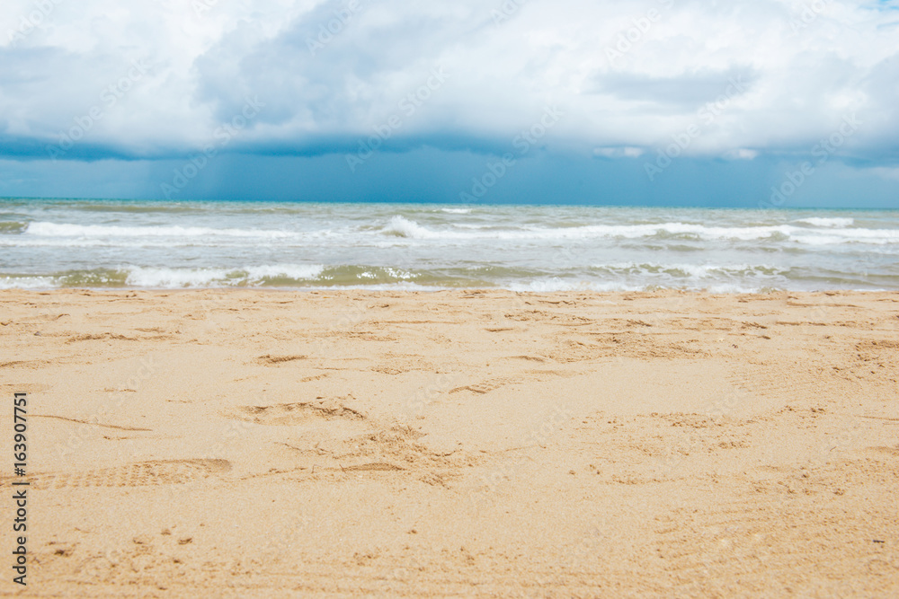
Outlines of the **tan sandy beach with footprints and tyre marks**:
[[0,351],[4,595],[899,596],[896,293],[4,291]]

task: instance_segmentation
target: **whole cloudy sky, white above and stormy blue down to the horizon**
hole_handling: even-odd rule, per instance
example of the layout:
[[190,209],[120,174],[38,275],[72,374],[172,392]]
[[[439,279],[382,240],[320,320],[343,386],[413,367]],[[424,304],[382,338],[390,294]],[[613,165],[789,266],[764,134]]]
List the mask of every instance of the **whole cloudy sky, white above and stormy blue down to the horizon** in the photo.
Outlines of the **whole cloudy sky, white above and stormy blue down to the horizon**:
[[899,1],[4,0],[0,196],[899,208]]

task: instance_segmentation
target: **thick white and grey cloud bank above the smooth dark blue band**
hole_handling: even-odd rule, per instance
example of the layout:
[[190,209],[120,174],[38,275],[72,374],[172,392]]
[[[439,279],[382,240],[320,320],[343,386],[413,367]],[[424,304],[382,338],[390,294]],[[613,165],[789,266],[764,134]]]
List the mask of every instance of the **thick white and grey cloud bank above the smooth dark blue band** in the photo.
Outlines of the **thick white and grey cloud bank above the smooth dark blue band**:
[[381,149],[501,153],[559,106],[547,146],[585,156],[652,153],[693,126],[688,155],[797,154],[856,114],[863,126],[837,156],[895,163],[895,8],[7,0],[0,155],[48,157],[70,141],[57,159],[186,156],[255,99],[263,110],[222,152],[352,153],[396,118]]

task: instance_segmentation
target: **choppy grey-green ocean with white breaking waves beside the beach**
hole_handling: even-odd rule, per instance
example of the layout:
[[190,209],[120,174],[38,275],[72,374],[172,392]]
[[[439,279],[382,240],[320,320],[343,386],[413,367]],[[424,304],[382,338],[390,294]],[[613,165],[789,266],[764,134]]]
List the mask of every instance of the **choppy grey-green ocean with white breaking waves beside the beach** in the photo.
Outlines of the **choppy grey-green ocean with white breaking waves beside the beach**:
[[0,288],[899,289],[899,211],[0,200]]

